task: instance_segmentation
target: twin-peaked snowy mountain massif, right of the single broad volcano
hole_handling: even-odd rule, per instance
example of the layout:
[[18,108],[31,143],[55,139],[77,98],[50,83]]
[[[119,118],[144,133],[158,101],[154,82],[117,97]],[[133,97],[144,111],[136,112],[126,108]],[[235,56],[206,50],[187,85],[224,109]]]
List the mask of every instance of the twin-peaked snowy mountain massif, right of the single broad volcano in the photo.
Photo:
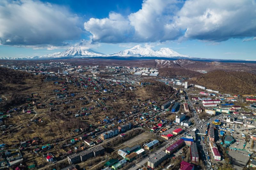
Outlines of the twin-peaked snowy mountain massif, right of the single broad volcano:
[[186,57],[182,54],[179,54],[178,52],[175,52],[169,48],[161,48],[160,50],[152,50],[151,48],[143,48],[140,45],[136,45],[135,47],[132,47],[128,50],[123,50],[114,54],[111,54],[111,56],[119,56],[119,57]]

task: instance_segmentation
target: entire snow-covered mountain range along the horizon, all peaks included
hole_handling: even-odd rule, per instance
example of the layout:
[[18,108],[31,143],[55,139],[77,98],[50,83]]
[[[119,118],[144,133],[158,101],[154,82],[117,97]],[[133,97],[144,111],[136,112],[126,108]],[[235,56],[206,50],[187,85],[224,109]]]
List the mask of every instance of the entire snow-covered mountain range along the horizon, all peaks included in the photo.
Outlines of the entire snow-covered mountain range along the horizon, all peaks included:
[[0,57],[0,59],[14,59],[14,60],[24,60],[24,59],[47,59],[47,58],[79,58],[79,57],[181,57],[181,58],[190,58],[186,55],[181,55],[176,51],[173,51],[169,48],[161,48],[160,50],[152,50],[151,48],[143,48],[140,45],[135,47],[122,50],[114,54],[103,54],[92,49],[84,50],[81,48],[70,48],[63,52],[56,52],[53,54],[47,54],[44,56],[27,56],[24,58],[13,58],[13,57]]

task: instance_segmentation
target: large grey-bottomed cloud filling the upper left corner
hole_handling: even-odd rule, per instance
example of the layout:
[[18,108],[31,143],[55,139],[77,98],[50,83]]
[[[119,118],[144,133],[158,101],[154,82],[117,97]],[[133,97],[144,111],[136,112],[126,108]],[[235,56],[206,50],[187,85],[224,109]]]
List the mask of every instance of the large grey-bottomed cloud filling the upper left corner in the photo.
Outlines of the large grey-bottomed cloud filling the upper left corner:
[[[0,44],[62,46],[82,33],[78,16],[66,8],[32,0],[0,2]],[[80,24],[80,26],[79,26]]]

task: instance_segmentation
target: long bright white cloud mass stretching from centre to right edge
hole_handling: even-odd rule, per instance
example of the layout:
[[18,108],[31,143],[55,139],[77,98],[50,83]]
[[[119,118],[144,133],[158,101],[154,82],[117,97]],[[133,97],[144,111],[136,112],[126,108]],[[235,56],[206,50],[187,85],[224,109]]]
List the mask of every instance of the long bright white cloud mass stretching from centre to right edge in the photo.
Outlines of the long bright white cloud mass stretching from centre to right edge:
[[84,28],[93,35],[92,42],[220,42],[256,36],[255,9],[255,0],[145,0],[127,17],[110,13],[108,18],[91,18]]

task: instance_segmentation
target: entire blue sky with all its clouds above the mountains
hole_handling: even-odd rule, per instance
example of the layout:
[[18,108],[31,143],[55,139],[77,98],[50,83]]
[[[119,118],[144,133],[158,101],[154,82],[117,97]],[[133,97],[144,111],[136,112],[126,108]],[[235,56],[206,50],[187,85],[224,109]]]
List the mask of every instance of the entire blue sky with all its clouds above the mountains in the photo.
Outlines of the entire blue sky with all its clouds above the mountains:
[[200,58],[256,60],[256,1],[3,0],[0,57],[137,44]]

